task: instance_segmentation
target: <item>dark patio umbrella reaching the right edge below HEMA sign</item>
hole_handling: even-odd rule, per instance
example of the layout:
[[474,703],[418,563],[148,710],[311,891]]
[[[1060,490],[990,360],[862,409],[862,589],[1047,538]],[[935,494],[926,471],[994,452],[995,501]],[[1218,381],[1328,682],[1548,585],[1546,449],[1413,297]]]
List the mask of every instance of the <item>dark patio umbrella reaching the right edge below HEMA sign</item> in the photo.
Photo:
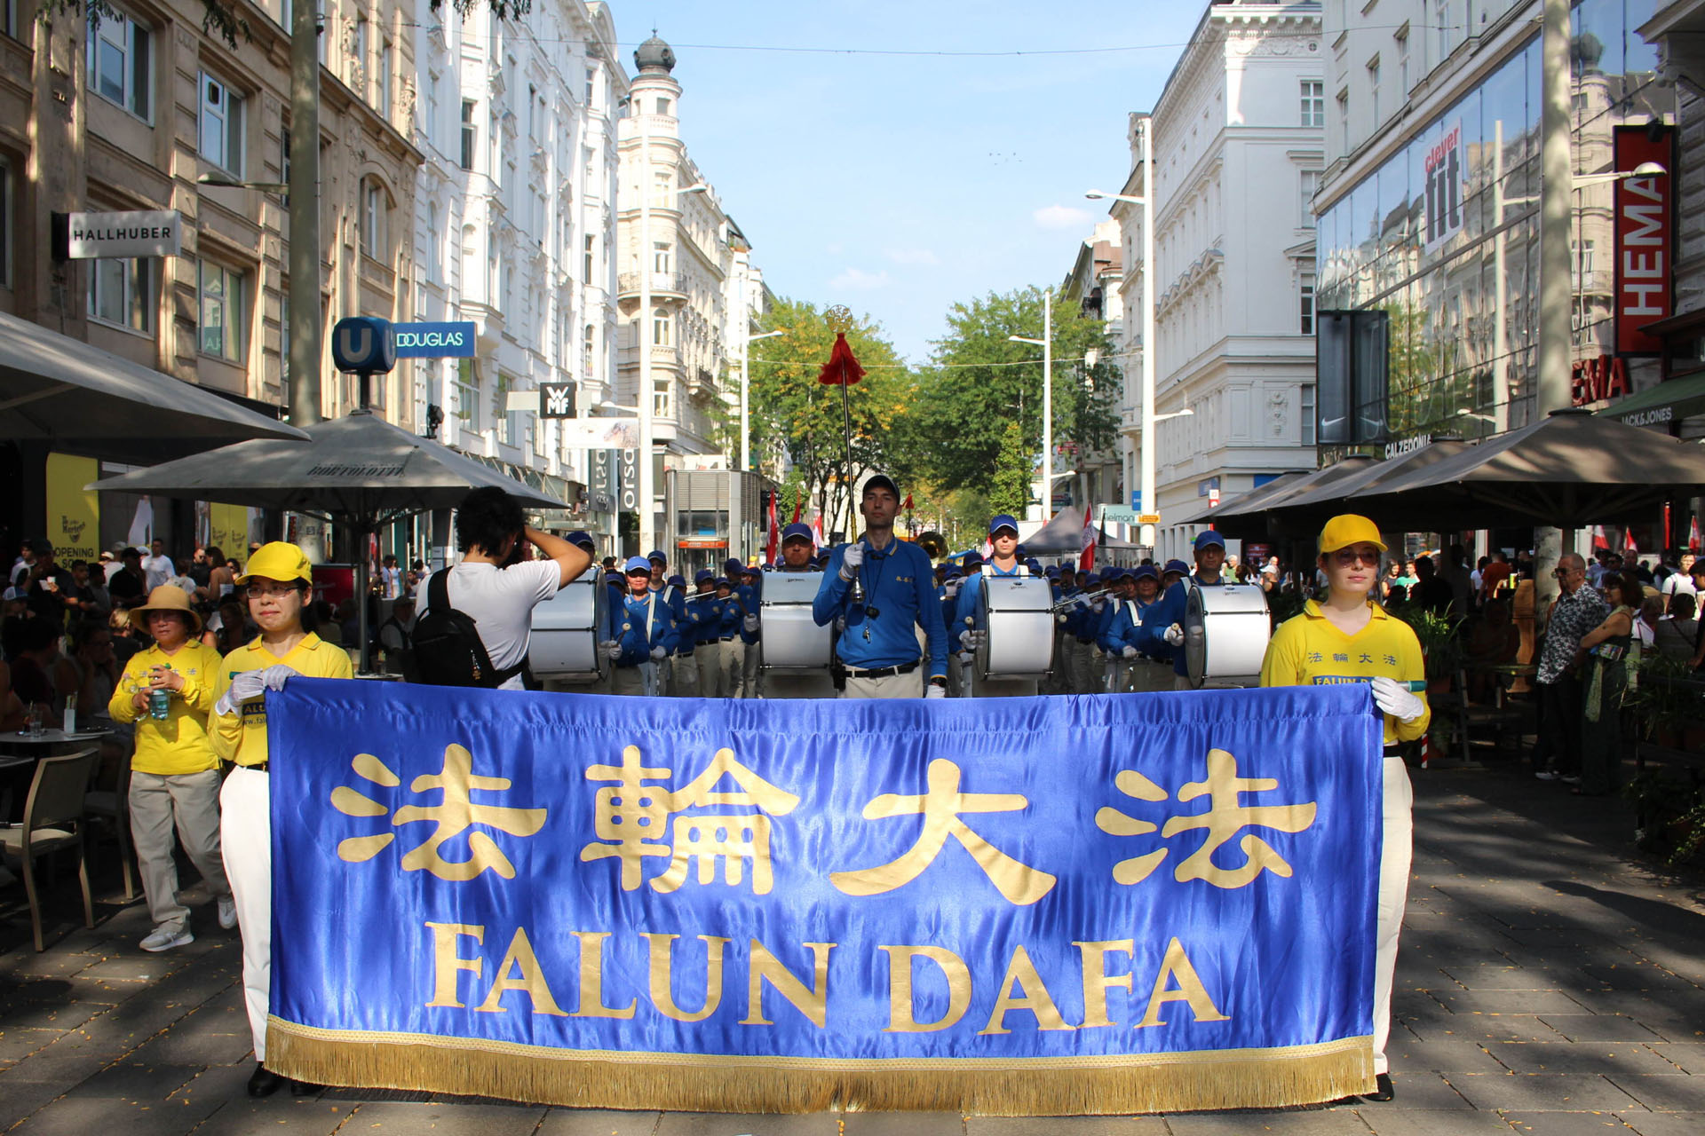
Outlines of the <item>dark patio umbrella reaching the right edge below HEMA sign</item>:
[[1620,523],[1705,487],[1705,448],[1587,410],[1555,410],[1432,465],[1354,492],[1405,528]]

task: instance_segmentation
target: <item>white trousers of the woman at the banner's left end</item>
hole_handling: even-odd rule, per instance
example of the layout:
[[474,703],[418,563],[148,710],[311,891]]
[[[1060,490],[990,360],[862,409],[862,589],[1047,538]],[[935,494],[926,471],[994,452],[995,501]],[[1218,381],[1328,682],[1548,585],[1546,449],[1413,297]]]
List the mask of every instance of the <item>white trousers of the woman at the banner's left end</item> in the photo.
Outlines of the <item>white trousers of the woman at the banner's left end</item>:
[[237,766],[220,790],[220,843],[242,932],[242,1000],[254,1059],[266,1061],[266,998],[273,984],[271,778]]

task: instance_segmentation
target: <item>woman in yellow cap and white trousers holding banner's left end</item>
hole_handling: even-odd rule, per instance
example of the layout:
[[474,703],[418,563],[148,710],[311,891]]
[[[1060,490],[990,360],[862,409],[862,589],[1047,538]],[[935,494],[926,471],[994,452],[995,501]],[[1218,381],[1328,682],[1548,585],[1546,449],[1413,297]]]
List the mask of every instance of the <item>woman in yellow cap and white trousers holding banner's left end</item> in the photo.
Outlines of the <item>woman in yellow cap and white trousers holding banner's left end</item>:
[[[259,637],[237,647],[218,671],[213,748],[237,768],[225,778],[225,872],[242,927],[242,991],[254,1037],[249,1095],[268,1097],[288,1078],[266,1068],[266,998],[273,976],[273,826],[266,754],[266,691],[283,690],[293,674],[351,678],[350,656],[302,627],[312,589],[309,559],[295,545],[273,542],[249,557],[237,577],[247,588],[249,615]],[[290,1083],[293,1093],[310,1085]]]

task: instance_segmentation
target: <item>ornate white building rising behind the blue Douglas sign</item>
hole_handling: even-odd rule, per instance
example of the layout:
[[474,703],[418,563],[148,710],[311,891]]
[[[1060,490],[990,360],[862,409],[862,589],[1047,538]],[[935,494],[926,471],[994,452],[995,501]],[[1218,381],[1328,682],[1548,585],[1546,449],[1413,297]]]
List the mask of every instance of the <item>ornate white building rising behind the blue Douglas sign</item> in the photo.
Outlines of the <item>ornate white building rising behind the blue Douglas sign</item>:
[[[573,383],[581,416],[614,397],[616,27],[585,0],[539,0],[517,20],[416,9],[414,318],[476,329],[471,359],[399,363],[418,427],[436,405],[445,443],[578,491],[593,453],[564,445],[535,392]],[[614,509],[581,521],[614,525]]]

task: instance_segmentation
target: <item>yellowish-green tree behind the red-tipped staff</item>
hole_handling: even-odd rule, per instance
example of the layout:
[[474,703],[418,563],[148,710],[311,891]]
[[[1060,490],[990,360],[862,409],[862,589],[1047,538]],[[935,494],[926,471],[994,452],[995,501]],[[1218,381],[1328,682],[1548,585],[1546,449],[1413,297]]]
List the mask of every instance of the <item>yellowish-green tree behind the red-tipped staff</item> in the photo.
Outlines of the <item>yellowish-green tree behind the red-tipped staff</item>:
[[[777,458],[793,463],[798,487],[824,502],[825,530],[854,531],[856,511],[847,492],[847,434],[841,388],[817,382],[835,334],[824,313],[803,300],[779,300],[764,318],[774,339],[752,344],[748,410],[752,455],[759,470],[776,477]],[[859,317],[847,344],[866,375],[847,388],[852,424],[851,484],[870,470],[890,470],[895,441],[907,434],[904,421],[916,409],[914,382],[881,329]]]

